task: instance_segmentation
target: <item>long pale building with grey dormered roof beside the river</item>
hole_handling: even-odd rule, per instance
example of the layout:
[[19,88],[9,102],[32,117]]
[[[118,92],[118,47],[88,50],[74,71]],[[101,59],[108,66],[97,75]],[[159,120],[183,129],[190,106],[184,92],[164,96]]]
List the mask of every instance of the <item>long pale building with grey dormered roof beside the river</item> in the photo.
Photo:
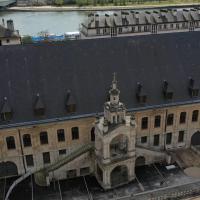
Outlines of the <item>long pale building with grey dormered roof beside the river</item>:
[[199,28],[200,9],[195,7],[92,13],[82,23],[81,32],[87,38],[198,31]]

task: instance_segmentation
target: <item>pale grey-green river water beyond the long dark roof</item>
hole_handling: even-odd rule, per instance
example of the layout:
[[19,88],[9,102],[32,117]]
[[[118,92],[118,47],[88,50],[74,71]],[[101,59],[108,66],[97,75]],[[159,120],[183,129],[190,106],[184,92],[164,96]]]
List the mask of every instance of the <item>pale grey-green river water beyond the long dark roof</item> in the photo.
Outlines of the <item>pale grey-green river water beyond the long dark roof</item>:
[[[88,12],[1,12],[0,20],[14,20],[15,29],[21,35],[37,35],[41,31],[54,34],[77,31]],[[0,21],[1,23],[1,21]]]

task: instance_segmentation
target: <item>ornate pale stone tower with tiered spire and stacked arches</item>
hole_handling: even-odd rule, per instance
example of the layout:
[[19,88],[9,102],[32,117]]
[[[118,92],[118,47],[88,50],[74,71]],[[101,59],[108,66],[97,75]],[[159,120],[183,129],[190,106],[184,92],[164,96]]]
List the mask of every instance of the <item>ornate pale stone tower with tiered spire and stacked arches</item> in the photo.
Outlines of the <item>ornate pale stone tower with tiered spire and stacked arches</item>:
[[135,178],[136,123],[134,116],[126,115],[125,105],[120,101],[115,73],[109,95],[104,116],[95,123],[95,175],[104,189]]

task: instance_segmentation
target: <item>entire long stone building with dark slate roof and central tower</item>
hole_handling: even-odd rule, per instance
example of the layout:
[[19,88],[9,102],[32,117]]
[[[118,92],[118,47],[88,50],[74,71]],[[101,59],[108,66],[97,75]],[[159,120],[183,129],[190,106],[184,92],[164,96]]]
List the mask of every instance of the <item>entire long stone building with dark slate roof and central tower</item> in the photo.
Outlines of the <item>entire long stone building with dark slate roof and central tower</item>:
[[2,46],[0,176],[94,174],[109,189],[200,145],[199,36]]

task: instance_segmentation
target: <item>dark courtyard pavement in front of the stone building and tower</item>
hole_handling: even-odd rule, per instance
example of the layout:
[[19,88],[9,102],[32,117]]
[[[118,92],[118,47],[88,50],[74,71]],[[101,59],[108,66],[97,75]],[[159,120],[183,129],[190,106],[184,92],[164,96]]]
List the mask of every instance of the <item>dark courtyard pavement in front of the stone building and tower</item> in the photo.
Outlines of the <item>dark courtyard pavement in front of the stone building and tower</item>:
[[[54,181],[50,187],[39,187],[34,183],[34,179],[29,177],[14,189],[9,200],[125,200],[132,199],[133,195],[134,199],[145,200],[152,197],[150,199],[153,200],[155,196],[168,195],[172,191],[179,195],[178,192],[184,190],[187,196],[189,193],[186,191],[196,194],[197,189],[200,189],[200,180],[185,175],[178,166],[171,170],[161,164],[143,166],[136,168],[136,176],[138,181],[108,191],[104,191],[93,176]],[[0,190],[5,186],[4,181],[0,180]],[[6,181],[6,190],[13,181],[14,178]]]

